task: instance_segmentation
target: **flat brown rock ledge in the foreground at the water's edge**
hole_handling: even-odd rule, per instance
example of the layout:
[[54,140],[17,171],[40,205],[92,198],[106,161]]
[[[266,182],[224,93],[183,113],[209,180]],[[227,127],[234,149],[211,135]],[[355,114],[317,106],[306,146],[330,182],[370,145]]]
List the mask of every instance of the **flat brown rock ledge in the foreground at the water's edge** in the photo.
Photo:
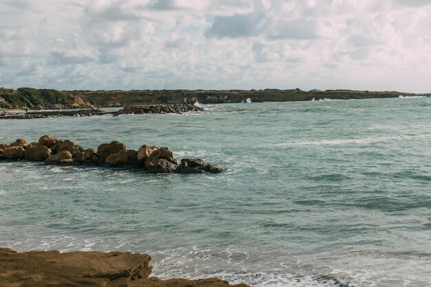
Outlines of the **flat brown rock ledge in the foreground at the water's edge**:
[[0,286],[15,287],[250,287],[209,278],[162,280],[149,277],[147,254],[125,252],[30,251],[0,248]]

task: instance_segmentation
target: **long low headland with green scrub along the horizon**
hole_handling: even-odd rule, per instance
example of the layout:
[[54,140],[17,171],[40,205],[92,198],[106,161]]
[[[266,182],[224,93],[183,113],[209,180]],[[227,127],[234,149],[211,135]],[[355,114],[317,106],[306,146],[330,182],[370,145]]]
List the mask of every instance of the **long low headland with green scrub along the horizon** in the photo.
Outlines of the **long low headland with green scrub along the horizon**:
[[[323,99],[398,98],[418,96],[403,92],[370,92],[350,89],[160,89],[113,91],[58,91],[56,89],[0,88],[0,104],[4,109],[65,109],[89,107],[123,107],[145,104],[217,104],[256,102],[284,102]],[[430,96],[423,94],[423,96]]]

